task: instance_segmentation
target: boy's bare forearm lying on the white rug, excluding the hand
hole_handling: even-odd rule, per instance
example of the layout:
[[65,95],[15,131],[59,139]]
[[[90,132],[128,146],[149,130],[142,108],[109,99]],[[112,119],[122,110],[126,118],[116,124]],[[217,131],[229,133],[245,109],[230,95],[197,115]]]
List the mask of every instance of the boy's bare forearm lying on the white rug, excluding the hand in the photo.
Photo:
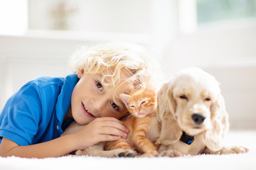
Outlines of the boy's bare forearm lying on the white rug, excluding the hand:
[[73,135],[65,135],[36,145],[13,147],[6,152],[5,156],[26,158],[60,157],[73,152],[76,150],[76,147]]

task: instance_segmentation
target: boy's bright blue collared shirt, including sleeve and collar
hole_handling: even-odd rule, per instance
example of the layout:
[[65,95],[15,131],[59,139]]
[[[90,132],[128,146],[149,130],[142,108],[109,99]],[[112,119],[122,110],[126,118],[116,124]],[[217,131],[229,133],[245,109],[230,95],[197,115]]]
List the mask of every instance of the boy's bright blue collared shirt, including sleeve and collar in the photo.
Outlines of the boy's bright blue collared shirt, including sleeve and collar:
[[76,74],[70,74],[65,78],[41,77],[25,84],[9,98],[0,114],[0,143],[3,137],[21,146],[59,137],[67,126],[63,119],[78,80]]

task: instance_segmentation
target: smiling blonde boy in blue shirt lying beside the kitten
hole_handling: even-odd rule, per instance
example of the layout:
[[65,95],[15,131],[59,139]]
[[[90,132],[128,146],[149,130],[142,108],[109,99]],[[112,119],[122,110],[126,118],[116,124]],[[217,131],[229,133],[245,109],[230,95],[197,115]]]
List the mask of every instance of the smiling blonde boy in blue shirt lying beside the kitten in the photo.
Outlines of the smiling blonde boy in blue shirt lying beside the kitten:
[[[68,77],[41,77],[25,84],[0,114],[0,156],[60,157],[102,141],[127,137],[118,119],[127,113],[119,94],[150,78],[136,45],[110,43],[78,50]],[[75,120],[87,125],[60,137]]]

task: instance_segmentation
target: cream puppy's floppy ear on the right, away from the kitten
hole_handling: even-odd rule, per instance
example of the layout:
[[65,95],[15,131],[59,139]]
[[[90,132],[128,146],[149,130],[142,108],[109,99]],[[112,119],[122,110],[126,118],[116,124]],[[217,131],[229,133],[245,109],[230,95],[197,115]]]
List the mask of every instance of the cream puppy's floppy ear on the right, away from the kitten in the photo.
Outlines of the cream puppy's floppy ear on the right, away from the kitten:
[[223,148],[223,140],[229,130],[228,113],[225,111],[224,98],[220,93],[210,106],[210,121],[212,128],[205,132],[206,147],[218,151]]

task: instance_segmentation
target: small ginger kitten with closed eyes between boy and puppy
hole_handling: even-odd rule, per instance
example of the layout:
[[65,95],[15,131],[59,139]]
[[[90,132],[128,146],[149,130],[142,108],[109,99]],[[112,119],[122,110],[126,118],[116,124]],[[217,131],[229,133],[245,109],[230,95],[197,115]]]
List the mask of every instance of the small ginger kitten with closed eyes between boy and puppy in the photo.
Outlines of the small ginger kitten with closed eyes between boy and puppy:
[[[143,89],[131,96],[120,94],[120,98],[130,113],[124,123],[130,132],[126,139],[107,142],[105,150],[135,149],[146,157],[158,155],[158,146],[154,145],[159,137],[156,123],[156,93],[153,89]],[[133,153],[120,153],[119,157],[134,157]]]

